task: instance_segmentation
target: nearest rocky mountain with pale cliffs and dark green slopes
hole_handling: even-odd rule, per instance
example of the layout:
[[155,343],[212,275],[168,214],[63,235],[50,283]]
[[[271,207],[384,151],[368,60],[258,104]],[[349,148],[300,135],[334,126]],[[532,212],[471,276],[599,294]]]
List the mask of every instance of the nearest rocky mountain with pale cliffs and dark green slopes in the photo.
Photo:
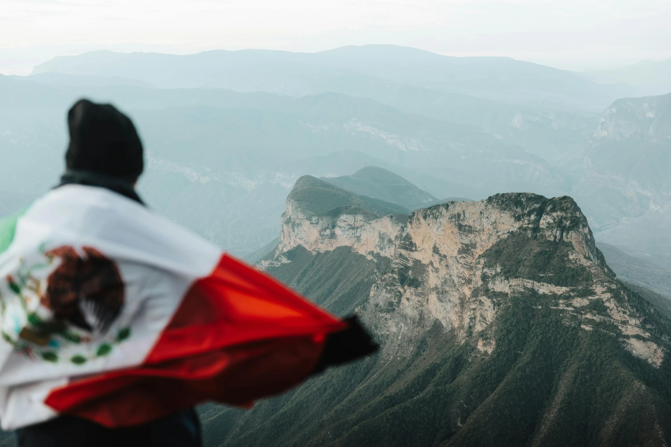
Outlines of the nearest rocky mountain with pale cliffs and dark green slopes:
[[668,444],[671,306],[615,279],[571,198],[384,216],[360,197],[301,177],[259,265],[360,314],[380,353],[249,411],[203,407],[207,446]]

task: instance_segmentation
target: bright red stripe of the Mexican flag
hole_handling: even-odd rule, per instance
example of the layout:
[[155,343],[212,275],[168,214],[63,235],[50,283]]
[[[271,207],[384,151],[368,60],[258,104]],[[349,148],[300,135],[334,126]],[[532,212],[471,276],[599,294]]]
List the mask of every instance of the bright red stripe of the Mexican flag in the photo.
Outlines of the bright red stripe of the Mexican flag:
[[325,334],[345,327],[266,273],[223,255],[189,289],[143,365],[72,381],[45,403],[108,427],[208,400],[248,405],[308,377]]

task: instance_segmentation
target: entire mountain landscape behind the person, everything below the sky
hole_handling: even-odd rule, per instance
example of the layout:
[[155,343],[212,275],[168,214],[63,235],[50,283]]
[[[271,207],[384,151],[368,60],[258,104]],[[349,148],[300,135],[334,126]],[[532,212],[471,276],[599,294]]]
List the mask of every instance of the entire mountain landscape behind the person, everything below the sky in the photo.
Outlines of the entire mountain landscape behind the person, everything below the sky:
[[0,216],[57,184],[68,107],[113,103],[148,206],[372,328],[377,357],[201,408],[208,446],[666,445],[670,62],[58,56],[0,75]]

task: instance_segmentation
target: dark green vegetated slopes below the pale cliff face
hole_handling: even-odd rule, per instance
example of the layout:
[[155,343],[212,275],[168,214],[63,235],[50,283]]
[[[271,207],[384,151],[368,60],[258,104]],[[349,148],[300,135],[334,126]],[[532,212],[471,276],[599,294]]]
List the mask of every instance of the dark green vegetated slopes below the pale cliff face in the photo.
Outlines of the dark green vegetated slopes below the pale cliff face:
[[[565,243],[550,243],[553,249],[527,242],[527,251],[555,253],[536,271],[565,275]],[[484,258],[491,255],[514,258],[518,249],[496,247]],[[299,247],[287,257],[291,263],[269,271],[338,314],[365,300],[368,278],[388,268],[348,247],[317,255]],[[581,330],[575,317],[555,308],[556,298],[497,298],[503,311],[484,335],[495,340],[491,356],[477,349],[483,334],[458,344],[435,324],[407,358],[373,358],[327,371],[251,411],[212,407],[204,415],[207,445],[624,446],[668,440],[668,363],[655,369],[633,357],[611,324]],[[629,299],[669,333],[666,317],[633,292]],[[590,311],[605,312],[598,306]]]

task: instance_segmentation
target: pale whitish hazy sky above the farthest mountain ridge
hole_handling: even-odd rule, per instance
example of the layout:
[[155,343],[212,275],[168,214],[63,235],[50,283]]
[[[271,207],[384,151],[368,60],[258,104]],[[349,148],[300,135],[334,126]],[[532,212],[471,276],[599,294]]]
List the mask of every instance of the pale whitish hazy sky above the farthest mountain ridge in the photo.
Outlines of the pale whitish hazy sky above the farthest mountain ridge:
[[0,0],[0,73],[89,50],[398,44],[559,68],[671,58],[671,0]]

